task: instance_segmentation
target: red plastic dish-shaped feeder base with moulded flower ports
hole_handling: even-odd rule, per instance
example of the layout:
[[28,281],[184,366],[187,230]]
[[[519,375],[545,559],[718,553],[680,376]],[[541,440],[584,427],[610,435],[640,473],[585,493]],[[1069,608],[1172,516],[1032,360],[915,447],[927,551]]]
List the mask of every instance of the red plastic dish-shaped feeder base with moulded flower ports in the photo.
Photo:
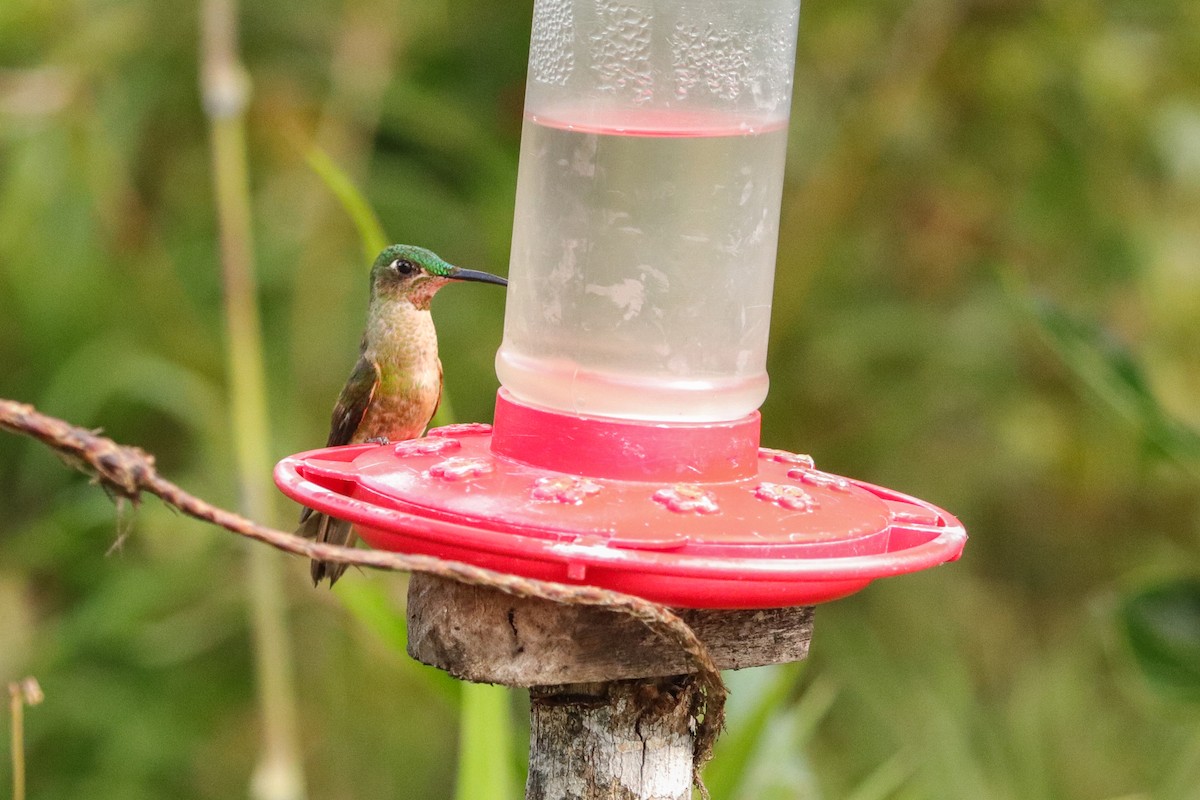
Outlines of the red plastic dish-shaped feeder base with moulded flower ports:
[[671,606],[823,602],[961,553],[966,533],[946,511],[758,449],[757,431],[757,415],[641,425],[502,392],[494,434],[472,423],[313,450],[280,462],[275,480],[372,547]]

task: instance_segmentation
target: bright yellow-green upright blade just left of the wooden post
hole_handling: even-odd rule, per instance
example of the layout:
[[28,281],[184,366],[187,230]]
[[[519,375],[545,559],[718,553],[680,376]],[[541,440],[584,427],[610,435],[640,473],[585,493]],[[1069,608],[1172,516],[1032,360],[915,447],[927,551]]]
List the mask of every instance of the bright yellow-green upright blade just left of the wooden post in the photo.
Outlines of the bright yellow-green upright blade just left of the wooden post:
[[516,800],[509,690],[462,685],[455,800]]

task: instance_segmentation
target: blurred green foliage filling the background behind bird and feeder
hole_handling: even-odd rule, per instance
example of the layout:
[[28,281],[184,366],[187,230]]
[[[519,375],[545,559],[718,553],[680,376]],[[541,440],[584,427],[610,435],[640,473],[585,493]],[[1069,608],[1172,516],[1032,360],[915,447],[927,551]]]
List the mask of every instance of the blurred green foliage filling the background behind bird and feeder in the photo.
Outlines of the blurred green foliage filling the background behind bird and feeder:
[[[283,456],[324,440],[366,294],[305,154],[396,239],[503,272],[532,6],[244,5]],[[764,443],[972,540],[818,609],[806,664],[731,676],[716,796],[1200,798],[1200,5],[808,0],[800,28]],[[0,4],[0,396],[228,505],[197,38],[179,0]],[[502,314],[437,303],[461,419],[490,417]],[[106,557],[103,493],[13,437],[0,486],[0,679],[47,696],[30,796],[244,795],[244,547],[150,501]],[[457,688],[397,649],[403,581],[305,572],[311,796],[451,796]]]

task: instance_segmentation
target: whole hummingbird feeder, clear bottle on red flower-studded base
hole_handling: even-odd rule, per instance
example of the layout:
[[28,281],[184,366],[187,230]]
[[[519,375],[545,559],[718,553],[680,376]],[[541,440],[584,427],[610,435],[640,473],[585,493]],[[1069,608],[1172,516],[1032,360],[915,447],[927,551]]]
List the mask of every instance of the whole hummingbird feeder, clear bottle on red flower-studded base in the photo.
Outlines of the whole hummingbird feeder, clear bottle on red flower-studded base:
[[493,425],[299,453],[280,488],[377,548],[682,609],[806,607],[956,559],[948,512],[760,446],[798,17],[536,0]]

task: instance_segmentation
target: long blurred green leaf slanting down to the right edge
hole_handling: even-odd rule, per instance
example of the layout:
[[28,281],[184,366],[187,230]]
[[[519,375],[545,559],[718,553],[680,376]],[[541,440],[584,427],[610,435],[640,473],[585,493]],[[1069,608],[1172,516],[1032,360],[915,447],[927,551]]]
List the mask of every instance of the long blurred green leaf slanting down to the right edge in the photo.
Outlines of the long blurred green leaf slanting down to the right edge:
[[1200,433],[1163,408],[1136,355],[1111,331],[1073,317],[1045,297],[1015,289],[1013,281],[1007,283],[1010,296],[1063,363],[1135,426],[1147,444],[1200,479]]

